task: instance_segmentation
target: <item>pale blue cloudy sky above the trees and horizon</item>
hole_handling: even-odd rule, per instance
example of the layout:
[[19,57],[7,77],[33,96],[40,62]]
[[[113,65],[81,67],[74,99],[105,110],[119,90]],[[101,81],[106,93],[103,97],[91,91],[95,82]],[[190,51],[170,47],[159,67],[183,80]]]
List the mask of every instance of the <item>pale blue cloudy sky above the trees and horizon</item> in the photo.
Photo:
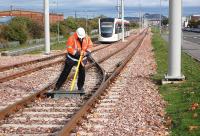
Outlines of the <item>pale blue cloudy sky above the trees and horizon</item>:
[[[144,10],[153,11],[154,8],[159,10],[160,0],[124,0],[127,14],[138,14],[139,1]],[[117,0],[49,0],[50,12],[60,12],[65,16],[73,16],[77,11],[77,16],[97,16],[99,14],[112,15],[116,12]],[[58,3],[58,4],[57,4]],[[0,0],[0,10],[13,9],[43,11],[43,0]],[[162,0],[163,9],[168,5],[168,0]],[[196,12],[200,13],[200,0],[183,0],[184,7],[196,7]],[[58,7],[58,8],[57,8]],[[147,7],[147,8],[146,8]],[[134,10],[131,10],[134,9]],[[164,9],[167,13],[167,9]],[[134,12],[134,13],[133,13]],[[156,11],[155,11],[156,12]]]

